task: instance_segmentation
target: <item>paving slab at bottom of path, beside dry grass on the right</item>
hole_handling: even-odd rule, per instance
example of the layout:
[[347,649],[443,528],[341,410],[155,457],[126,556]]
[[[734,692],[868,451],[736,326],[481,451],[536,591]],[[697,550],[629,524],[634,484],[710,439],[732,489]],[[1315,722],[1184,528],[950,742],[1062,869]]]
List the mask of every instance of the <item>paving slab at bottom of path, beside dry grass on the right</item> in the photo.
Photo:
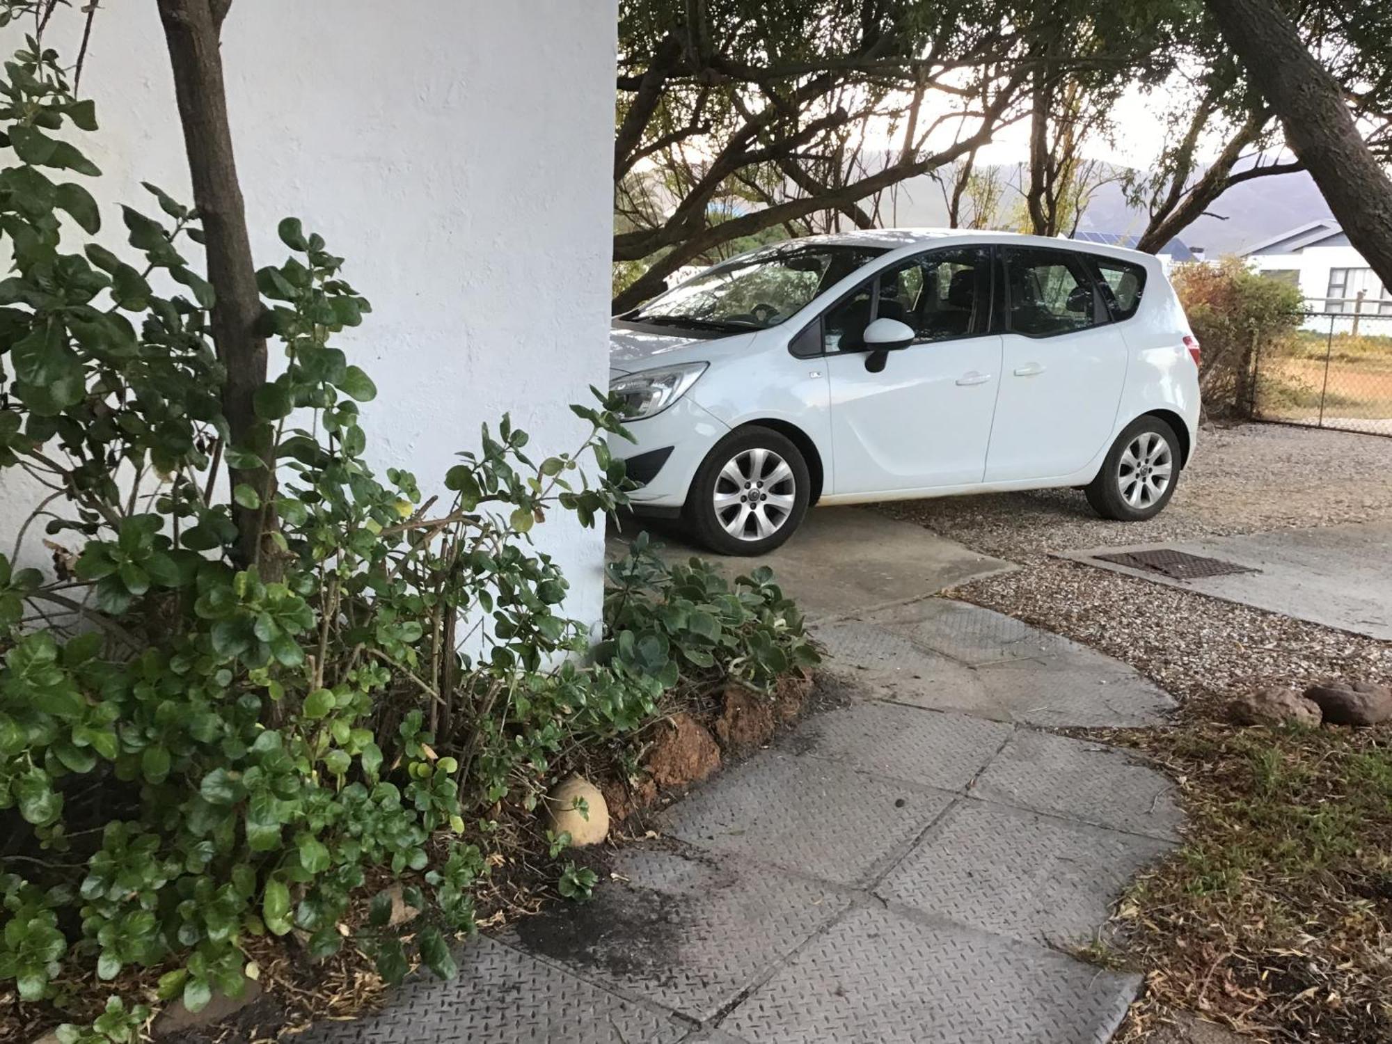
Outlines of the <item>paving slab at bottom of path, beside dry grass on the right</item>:
[[864,906],[721,1026],[750,1044],[1102,1044],[1139,984],[1040,947]]

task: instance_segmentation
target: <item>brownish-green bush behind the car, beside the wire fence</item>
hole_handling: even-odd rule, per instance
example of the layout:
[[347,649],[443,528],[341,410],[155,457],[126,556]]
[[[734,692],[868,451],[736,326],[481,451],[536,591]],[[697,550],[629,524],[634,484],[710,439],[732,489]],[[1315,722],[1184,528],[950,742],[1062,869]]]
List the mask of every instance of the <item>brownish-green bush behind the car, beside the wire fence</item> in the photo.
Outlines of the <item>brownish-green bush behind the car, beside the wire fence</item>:
[[1182,264],[1172,281],[1203,345],[1204,405],[1210,412],[1249,413],[1253,351],[1300,326],[1300,291],[1258,276],[1239,258]]

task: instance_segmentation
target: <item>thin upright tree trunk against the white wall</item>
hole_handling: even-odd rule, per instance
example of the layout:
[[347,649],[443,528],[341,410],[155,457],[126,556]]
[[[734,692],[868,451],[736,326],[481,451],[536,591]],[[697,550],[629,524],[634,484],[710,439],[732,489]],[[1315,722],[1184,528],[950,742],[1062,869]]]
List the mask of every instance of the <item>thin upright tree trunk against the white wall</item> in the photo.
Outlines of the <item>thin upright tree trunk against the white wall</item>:
[[[246,207],[232,159],[232,132],[227,122],[223,57],[219,38],[231,0],[159,0],[160,21],[174,71],[174,93],[184,125],[184,149],[193,182],[193,202],[203,224],[207,281],[213,284],[212,333],[217,358],[227,369],[223,415],[231,444],[270,462],[274,447],[267,425],[258,426],[252,395],[266,383],[266,338],[256,333],[262,315],[256,267],[246,234]],[[235,487],[245,483],[270,503],[274,475],[267,468],[228,465]],[[258,561],[262,532],[270,532],[274,512],[232,503],[237,523],[237,558],[241,565]],[[267,567],[273,567],[274,555]],[[263,569],[264,571],[264,569]]]

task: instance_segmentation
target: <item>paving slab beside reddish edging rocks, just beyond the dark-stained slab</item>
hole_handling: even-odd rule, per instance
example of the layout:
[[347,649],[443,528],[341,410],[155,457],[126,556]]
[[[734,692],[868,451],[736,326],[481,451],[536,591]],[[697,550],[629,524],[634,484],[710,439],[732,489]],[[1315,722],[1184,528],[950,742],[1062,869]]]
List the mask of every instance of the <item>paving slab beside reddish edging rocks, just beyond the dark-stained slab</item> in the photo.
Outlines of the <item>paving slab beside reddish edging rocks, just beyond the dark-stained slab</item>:
[[721,773],[658,823],[702,848],[859,884],[898,859],[952,800],[839,761],[766,750]]

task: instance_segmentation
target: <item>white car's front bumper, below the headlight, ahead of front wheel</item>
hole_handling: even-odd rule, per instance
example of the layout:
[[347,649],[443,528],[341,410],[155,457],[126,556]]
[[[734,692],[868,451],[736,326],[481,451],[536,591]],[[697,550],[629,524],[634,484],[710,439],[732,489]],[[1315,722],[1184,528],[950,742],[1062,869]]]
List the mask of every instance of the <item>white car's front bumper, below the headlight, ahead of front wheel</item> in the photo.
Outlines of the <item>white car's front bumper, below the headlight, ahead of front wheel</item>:
[[[639,509],[681,508],[706,454],[729,433],[728,425],[689,395],[677,400],[657,416],[628,420],[624,427],[636,441],[610,436],[608,447],[615,457],[633,462],[638,472],[635,477],[650,476],[640,489],[629,494],[633,507]],[[663,451],[668,451],[665,457]]]

